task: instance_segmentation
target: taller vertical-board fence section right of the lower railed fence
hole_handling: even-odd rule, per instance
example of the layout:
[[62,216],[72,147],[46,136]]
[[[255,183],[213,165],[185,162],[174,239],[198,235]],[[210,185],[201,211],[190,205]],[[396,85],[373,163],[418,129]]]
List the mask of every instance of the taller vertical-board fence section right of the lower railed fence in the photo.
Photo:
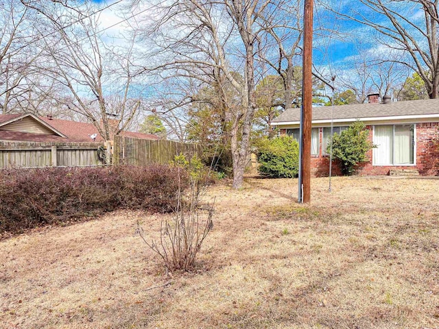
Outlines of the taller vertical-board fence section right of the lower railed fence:
[[113,163],[141,166],[153,163],[167,164],[180,153],[186,156],[201,156],[202,149],[198,144],[115,136]]

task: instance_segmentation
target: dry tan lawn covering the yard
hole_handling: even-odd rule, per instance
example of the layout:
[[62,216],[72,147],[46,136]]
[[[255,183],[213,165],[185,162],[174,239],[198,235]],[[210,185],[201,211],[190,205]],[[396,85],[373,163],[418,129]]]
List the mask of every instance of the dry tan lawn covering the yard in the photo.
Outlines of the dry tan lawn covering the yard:
[[211,187],[198,269],[167,274],[113,212],[0,241],[2,328],[439,328],[439,180]]

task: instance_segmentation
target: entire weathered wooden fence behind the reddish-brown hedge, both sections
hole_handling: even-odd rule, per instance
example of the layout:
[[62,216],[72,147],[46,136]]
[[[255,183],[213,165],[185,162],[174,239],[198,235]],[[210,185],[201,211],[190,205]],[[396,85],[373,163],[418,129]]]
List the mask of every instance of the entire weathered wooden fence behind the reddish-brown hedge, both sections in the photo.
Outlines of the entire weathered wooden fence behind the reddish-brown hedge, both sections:
[[[180,153],[201,156],[200,145],[115,136],[114,143],[0,142],[0,169],[21,167],[86,167],[103,164],[98,147],[113,164],[167,164]],[[111,155],[111,153],[113,153]]]

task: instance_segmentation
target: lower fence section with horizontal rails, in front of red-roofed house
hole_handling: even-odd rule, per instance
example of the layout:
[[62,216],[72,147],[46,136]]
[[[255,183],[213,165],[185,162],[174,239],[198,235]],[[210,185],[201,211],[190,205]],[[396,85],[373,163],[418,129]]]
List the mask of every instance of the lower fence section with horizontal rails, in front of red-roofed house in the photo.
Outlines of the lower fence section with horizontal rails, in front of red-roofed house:
[[101,164],[102,143],[0,142],[0,169],[10,167],[82,167]]

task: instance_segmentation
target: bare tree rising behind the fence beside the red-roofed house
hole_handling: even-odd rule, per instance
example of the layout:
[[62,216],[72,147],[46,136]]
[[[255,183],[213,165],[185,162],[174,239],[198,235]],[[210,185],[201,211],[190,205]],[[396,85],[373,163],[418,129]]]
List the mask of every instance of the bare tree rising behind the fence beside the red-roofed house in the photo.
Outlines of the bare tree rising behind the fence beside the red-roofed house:
[[[99,14],[86,14],[88,7],[57,10],[27,5],[46,18],[50,33],[43,38],[43,51],[51,66],[41,73],[69,90],[72,98],[64,106],[91,121],[106,140],[126,130],[141,104],[141,90],[131,88],[138,77],[134,38],[110,47],[99,32]],[[117,120],[117,127],[109,119]]]

